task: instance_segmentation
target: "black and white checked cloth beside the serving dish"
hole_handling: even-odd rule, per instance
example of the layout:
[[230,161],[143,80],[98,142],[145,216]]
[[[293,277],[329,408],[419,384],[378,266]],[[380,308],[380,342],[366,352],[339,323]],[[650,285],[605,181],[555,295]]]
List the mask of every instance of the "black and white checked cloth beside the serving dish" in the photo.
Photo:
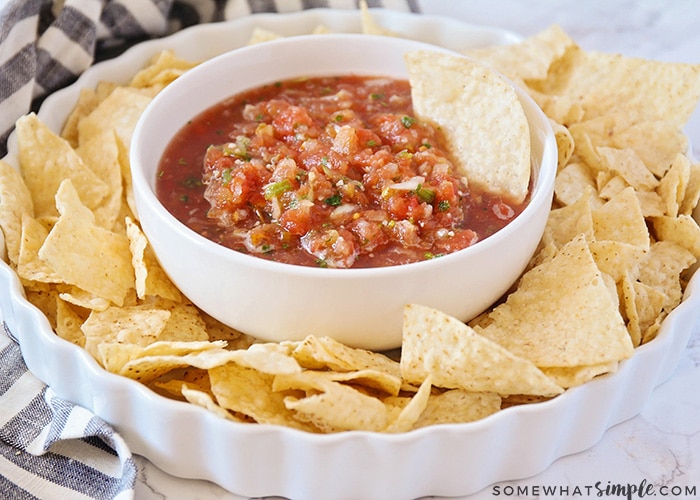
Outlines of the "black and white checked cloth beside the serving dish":
[[[417,0],[367,0],[418,12]],[[96,61],[190,25],[261,12],[355,9],[357,0],[0,0],[0,158],[17,118]],[[0,323],[2,326],[2,323]],[[133,498],[136,464],[121,437],[56,397],[0,328],[0,498]]]

